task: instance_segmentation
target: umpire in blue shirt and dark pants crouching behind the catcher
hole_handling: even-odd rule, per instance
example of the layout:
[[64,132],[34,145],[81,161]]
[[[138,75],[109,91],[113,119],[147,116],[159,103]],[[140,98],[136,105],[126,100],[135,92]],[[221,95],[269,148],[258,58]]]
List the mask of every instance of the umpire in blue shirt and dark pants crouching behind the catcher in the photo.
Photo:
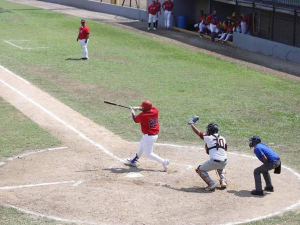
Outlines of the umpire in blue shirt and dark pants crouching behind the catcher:
[[280,173],[280,158],[279,156],[267,145],[261,143],[259,136],[252,136],[249,138],[249,147],[254,147],[254,154],[263,163],[254,169],[254,180],[255,180],[255,190],[251,191],[254,195],[263,195],[263,190],[261,187],[261,176],[262,173],[266,186],[264,190],[274,191],[271,176],[268,172],[271,169],[275,169],[274,173]]

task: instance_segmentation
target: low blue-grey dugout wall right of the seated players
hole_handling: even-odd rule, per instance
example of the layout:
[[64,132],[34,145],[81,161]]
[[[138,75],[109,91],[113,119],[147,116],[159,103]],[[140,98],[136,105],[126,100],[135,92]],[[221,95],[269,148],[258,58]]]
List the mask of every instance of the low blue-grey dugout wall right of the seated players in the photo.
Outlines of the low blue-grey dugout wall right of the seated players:
[[271,55],[281,59],[300,63],[299,47],[294,47],[237,32],[233,32],[232,44],[243,49],[258,51],[265,55]]

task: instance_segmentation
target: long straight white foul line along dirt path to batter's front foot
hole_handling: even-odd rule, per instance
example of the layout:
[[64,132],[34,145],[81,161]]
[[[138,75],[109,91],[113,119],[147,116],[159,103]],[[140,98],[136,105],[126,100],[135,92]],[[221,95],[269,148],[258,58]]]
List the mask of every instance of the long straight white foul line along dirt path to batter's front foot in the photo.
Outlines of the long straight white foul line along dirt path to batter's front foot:
[[101,149],[105,154],[113,157],[116,160],[119,160],[121,162],[124,162],[123,159],[119,158],[118,156],[116,156],[115,154],[113,154],[112,152],[108,151],[105,147],[103,147],[101,144],[98,144],[97,142],[93,141],[92,139],[90,139],[89,137],[87,137],[86,135],[84,135],[83,133],[81,133],[80,131],[78,131],[76,128],[74,128],[73,126],[69,125],[67,122],[65,122],[64,120],[62,120],[61,118],[59,118],[58,116],[54,115],[52,112],[50,112],[49,110],[47,110],[46,108],[44,108],[43,106],[41,106],[40,104],[36,103],[34,100],[32,100],[31,98],[27,97],[25,94],[23,94],[22,92],[20,92],[19,90],[15,89],[14,87],[12,87],[11,85],[9,85],[8,83],[6,83],[5,81],[3,81],[2,79],[0,79],[0,82],[2,82],[5,86],[9,87],[10,89],[12,89],[13,91],[15,91],[17,94],[19,94],[20,96],[22,96],[23,98],[25,98],[26,100],[28,100],[29,102],[31,102],[32,104],[36,105],[37,107],[39,107],[42,111],[46,112],[48,115],[50,115],[51,117],[53,117],[55,120],[57,120],[58,122],[61,122],[62,124],[64,124],[66,127],[68,127],[70,130],[74,131],[75,133],[77,133],[80,137],[82,137],[83,139],[87,140],[88,142],[90,142],[91,144],[93,144],[94,146],[98,147],[99,149]]

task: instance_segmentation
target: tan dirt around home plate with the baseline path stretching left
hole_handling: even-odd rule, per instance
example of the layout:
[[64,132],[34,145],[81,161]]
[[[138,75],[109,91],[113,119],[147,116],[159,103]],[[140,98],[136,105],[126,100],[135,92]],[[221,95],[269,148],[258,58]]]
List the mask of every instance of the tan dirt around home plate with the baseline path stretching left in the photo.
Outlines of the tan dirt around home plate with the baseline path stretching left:
[[[78,223],[220,224],[277,212],[300,199],[300,181],[286,169],[272,175],[275,192],[252,196],[252,171],[259,162],[251,157],[229,154],[229,186],[214,192],[205,191],[194,172],[207,159],[200,148],[156,145],[155,152],[170,159],[168,172],[145,157],[138,168],[125,166],[121,160],[137,143],[3,69],[0,95],[68,146],[2,164],[2,204]],[[141,176],[129,177],[132,172]]]

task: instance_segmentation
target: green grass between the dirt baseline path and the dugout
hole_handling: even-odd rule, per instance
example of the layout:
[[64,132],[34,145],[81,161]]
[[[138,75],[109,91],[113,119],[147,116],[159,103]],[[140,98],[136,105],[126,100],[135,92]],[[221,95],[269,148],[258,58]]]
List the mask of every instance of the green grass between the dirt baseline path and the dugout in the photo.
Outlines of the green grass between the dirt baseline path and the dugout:
[[[75,60],[79,17],[3,0],[0,7],[0,64],[121,137],[138,140],[139,127],[129,110],[103,100],[133,106],[149,99],[160,110],[159,142],[199,144],[186,125],[199,114],[198,127],[218,123],[229,150],[251,154],[247,139],[259,135],[284,164],[300,170],[299,82],[91,20],[90,59]],[[3,40],[49,48],[19,49]],[[287,217],[298,224],[300,213],[265,224],[286,224]]]

